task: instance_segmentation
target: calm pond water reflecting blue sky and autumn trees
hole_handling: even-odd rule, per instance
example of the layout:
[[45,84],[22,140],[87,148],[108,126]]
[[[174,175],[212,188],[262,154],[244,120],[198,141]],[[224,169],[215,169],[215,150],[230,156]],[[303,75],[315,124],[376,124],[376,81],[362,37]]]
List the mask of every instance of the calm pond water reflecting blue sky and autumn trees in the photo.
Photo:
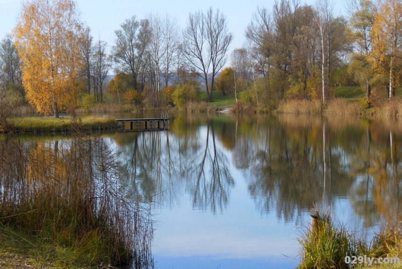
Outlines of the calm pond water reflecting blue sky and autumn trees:
[[157,268],[293,268],[314,205],[368,236],[398,219],[397,120],[170,117],[169,131],[100,133],[152,205]]

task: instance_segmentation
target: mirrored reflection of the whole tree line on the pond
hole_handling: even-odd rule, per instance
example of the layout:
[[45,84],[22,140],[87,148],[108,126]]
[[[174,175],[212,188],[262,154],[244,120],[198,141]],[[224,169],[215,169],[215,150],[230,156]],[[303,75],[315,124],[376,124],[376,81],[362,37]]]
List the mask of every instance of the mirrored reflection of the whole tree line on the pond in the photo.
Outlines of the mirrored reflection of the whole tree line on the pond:
[[[350,203],[363,226],[400,212],[402,126],[351,117],[177,115],[171,131],[119,133],[133,190],[174,206],[224,210],[241,171],[261,212],[300,224],[303,213]],[[230,168],[232,167],[232,168]]]

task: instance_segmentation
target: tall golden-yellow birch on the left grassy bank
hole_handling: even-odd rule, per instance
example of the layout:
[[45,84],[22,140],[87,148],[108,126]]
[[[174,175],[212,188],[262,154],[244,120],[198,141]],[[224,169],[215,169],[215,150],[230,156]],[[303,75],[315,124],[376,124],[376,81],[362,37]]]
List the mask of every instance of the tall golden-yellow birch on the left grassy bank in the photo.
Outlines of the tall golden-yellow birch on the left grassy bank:
[[26,0],[14,29],[27,97],[39,113],[75,107],[83,24],[72,0]]

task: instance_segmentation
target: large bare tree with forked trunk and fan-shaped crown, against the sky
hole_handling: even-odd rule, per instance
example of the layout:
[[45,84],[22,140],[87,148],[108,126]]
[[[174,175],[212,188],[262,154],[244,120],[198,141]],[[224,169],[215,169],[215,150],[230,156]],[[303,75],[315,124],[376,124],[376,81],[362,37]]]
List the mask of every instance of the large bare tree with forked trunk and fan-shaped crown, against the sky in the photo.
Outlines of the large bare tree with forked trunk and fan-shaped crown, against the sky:
[[[219,10],[210,8],[207,14],[198,11],[188,15],[187,27],[183,31],[183,52],[206,84],[207,95],[212,101],[215,75],[226,62],[226,52],[233,35],[228,32],[226,18]],[[208,73],[211,68],[211,92]],[[201,72],[201,73],[199,73]]]

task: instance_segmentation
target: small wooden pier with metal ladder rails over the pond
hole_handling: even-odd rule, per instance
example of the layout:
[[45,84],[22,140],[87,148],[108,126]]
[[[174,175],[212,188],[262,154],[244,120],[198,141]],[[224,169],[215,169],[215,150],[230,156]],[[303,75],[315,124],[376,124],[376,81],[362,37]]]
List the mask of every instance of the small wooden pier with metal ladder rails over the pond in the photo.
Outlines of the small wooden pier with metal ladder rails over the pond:
[[[148,118],[148,119],[117,119],[117,123],[122,131],[168,131],[168,124],[170,118],[167,112],[162,112],[161,118]],[[130,129],[126,128],[126,123],[130,123]],[[134,123],[136,128],[134,128]],[[142,124],[144,123],[144,124]],[[128,126],[127,126],[128,127]]]

